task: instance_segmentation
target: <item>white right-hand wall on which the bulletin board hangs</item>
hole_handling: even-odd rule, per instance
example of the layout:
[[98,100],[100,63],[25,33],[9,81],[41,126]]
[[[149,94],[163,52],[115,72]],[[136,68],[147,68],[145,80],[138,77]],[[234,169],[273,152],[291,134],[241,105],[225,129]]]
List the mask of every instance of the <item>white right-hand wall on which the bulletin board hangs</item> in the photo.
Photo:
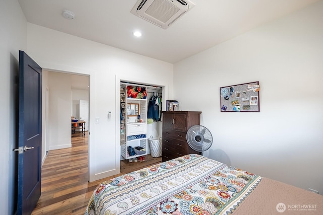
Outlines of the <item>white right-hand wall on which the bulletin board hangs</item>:
[[[204,155],[323,194],[323,2],[174,65],[174,99],[202,111]],[[259,81],[260,112],[220,112],[220,87]]]

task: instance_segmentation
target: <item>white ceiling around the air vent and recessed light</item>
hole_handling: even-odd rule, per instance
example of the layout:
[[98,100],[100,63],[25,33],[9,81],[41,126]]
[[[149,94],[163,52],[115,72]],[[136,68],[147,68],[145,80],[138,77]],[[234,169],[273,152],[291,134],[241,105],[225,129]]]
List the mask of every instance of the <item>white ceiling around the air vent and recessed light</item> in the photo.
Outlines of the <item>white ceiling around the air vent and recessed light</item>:
[[191,0],[196,6],[166,30],[130,13],[137,0],[18,1],[30,23],[175,63],[318,0]]

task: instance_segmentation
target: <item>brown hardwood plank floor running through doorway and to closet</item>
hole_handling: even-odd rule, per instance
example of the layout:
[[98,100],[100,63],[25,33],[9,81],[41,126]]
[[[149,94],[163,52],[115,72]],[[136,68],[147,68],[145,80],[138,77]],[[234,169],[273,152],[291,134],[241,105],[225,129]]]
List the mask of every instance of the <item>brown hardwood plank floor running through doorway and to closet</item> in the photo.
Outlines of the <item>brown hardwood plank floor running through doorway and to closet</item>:
[[105,180],[161,162],[120,162],[120,174],[88,182],[88,132],[72,136],[72,148],[49,151],[42,166],[41,196],[32,214],[84,214],[96,186]]

